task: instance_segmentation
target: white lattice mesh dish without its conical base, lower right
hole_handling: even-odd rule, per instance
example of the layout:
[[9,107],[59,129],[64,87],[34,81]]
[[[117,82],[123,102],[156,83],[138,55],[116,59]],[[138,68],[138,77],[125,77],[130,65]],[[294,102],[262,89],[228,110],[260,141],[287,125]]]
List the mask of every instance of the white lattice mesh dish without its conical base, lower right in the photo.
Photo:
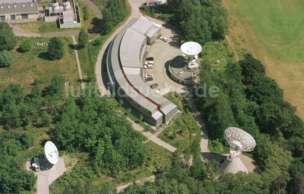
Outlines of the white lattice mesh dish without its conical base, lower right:
[[233,161],[242,152],[250,152],[256,143],[254,138],[247,132],[237,127],[228,127],[224,132],[224,137],[230,146],[228,160]]

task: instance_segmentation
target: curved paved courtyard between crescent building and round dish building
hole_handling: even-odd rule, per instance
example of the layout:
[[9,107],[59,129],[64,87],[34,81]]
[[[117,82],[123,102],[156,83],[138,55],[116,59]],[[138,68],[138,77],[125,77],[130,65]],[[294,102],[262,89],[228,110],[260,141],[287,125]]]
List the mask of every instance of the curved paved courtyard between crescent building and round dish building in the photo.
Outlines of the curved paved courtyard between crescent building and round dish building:
[[159,90],[170,86],[171,92],[185,92],[185,86],[173,81],[168,77],[166,72],[170,60],[177,55],[182,54],[180,50],[181,45],[179,43],[181,38],[176,33],[177,31],[173,25],[163,23],[150,17],[148,19],[154,23],[162,25],[161,36],[168,38],[168,42],[164,42],[158,38],[152,45],[147,46],[147,57],[154,57],[154,65],[153,69],[144,70],[145,75],[153,74],[153,80],[146,83],[148,85],[157,83],[159,85]]

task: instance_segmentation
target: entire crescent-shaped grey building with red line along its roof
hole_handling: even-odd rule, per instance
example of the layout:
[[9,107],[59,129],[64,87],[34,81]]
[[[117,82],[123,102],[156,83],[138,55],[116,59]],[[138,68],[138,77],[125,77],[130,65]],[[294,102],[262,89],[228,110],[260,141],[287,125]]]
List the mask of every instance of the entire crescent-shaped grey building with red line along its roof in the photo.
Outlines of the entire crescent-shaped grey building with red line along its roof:
[[147,44],[160,35],[159,26],[144,17],[133,18],[111,42],[106,62],[110,91],[157,128],[178,115],[176,105],[143,81]]

